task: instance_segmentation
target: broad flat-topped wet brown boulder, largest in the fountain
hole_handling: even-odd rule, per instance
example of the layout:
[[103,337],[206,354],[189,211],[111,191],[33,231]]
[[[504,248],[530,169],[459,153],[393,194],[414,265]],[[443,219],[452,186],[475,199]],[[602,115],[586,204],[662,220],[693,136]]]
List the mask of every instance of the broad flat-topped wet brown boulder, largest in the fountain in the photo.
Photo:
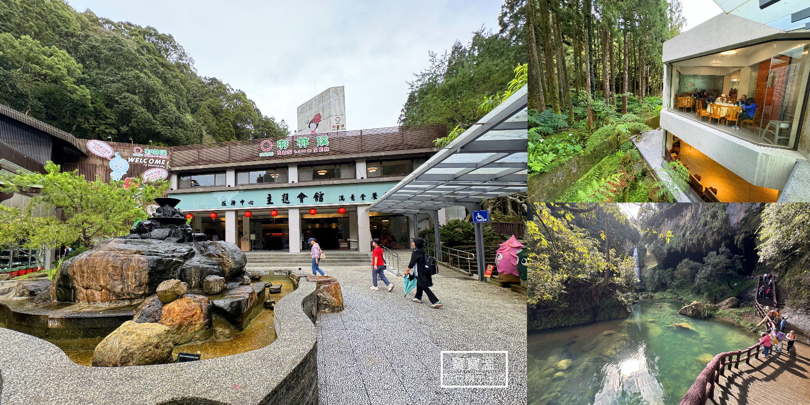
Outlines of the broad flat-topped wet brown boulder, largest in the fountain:
[[114,303],[151,296],[194,257],[190,243],[107,239],[62,263],[53,282],[56,301]]

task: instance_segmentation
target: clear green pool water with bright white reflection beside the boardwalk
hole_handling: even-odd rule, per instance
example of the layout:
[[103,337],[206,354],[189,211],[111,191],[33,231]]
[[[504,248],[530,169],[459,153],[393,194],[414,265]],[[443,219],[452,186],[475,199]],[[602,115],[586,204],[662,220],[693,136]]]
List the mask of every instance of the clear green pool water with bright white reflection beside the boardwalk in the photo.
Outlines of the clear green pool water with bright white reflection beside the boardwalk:
[[757,343],[678,309],[644,301],[628,319],[529,334],[528,404],[676,404],[714,355]]

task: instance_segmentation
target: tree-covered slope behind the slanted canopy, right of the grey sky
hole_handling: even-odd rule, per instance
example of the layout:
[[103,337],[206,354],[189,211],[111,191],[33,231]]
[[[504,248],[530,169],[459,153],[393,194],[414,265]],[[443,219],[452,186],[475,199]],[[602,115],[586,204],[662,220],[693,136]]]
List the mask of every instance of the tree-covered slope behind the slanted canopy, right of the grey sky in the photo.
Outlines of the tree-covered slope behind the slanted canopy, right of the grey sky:
[[467,45],[457,40],[450,51],[429,53],[430,66],[408,82],[399,123],[442,123],[448,130],[463,130],[483,117],[479,104],[503,91],[514,78],[515,66],[527,62],[526,3],[505,0],[498,32],[481,28]]

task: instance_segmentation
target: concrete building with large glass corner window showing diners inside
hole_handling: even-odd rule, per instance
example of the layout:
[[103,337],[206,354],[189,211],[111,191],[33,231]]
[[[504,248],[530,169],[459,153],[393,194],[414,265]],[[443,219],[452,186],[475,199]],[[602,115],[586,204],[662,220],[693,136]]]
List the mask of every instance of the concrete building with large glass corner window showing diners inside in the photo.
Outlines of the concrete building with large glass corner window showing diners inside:
[[[663,45],[659,151],[689,168],[692,198],[810,200],[810,31],[774,11],[717,15]],[[695,100],[696,91],[723,100]]]

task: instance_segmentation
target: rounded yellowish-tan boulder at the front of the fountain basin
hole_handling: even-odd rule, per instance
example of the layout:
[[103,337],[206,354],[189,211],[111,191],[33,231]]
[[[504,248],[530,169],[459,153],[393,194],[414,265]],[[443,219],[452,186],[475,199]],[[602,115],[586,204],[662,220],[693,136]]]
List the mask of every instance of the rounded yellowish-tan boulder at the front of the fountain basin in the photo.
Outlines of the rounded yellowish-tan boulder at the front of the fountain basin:
[[165,364],[172,361],[168,326],[127,321],[113,330],[93,351],[96,367]]

